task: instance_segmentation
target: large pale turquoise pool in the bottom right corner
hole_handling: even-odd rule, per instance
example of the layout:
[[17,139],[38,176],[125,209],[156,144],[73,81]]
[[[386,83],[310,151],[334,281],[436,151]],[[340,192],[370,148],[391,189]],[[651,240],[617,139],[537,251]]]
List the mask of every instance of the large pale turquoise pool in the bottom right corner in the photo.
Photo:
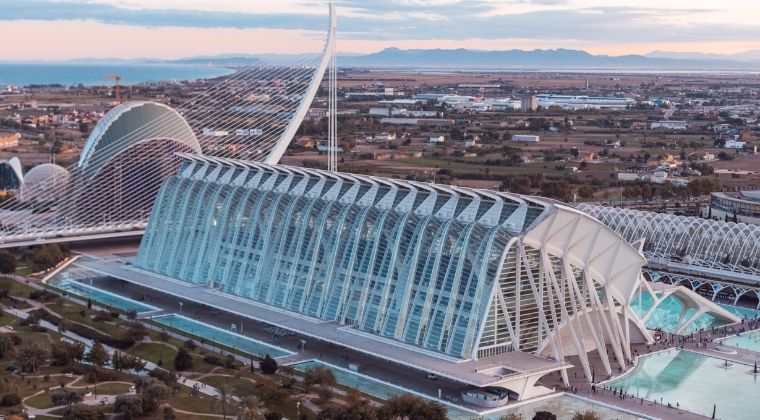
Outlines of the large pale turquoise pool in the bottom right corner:
[[680,404],[707,417],[716,407],[719,419],[756,419],[760,412],[760,377],[751,366],[723,367],[725,361],[689,351],[670,350],[639,358],[637,366],[607,387],[648,400]]

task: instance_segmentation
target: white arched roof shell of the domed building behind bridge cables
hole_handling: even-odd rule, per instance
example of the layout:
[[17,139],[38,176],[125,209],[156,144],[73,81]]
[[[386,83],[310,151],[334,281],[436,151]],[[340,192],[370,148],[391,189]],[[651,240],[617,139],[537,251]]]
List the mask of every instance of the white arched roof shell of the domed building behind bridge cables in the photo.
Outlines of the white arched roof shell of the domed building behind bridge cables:
[[172,139],[201,153],[193,130],[177,111],[156,102],[126,102],[109,111],[92,130],[77,168],[92,178],[123,151],[156,139]]

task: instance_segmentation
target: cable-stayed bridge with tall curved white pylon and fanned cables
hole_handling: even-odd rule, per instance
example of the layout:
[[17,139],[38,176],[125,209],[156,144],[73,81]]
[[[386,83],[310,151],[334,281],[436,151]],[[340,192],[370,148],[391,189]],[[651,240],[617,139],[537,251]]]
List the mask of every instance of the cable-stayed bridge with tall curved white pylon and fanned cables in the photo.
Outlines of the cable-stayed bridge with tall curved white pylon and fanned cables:
[[[142,235],[161,183],[179,169],[178,152],[277,163],[326,72],[328,149],[335,150],[335,37],[331,5],[321,53],[241,68],[175,108],[113,108],[76,164],[34,168],[38,176],[0,204],[0,248]],[[335,156],[329,161],[335,170]]]

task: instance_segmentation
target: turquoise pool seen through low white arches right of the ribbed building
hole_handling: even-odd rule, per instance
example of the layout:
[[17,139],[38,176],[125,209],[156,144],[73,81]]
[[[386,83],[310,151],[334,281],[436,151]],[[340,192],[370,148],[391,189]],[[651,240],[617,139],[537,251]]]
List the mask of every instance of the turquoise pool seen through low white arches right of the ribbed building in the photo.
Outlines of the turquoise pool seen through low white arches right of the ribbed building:
[[[654,299],[648,292],[642,292],[640,295],[636,293],[631,301],[631,308],[633,308],[636,315],[643,317],[654,305]],[[678,317],[681,313],[683,303],[675,296],[670,295],[663,300],[657,308],[655,308],[652,315],[647,319],[646,327],[651,330],[662,330],[665,332],[675,332],[678,325]],[[690,308],[686,310],[684,319],[688,319],[696,309]],[[700,329],[709,329],[712,327],[720,327],[724,325],[715,317],[710,314],[703,314],[689,324],[686,329],[683,330],[684,334],[689,334]]]

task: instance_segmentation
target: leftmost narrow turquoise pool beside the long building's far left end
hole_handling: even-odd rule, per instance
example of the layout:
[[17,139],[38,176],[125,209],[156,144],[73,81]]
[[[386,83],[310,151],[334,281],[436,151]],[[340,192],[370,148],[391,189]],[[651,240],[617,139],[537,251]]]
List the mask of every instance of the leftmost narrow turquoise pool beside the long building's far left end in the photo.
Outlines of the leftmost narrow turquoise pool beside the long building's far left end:
[[136,300],[106,292],[105,290],[100,290],[97,287],[92,287],[83,283],[83,281],[86,281],[87,279],[96,277],[102,276],[98,273],[72,264],[47,279],[46,284],[71,295],[76,295],[84,299],[92,299],[100,305],[110,306],[124,312],[134,310],[135,312],[140,313],[158,310],[155,306],[150,306]]

